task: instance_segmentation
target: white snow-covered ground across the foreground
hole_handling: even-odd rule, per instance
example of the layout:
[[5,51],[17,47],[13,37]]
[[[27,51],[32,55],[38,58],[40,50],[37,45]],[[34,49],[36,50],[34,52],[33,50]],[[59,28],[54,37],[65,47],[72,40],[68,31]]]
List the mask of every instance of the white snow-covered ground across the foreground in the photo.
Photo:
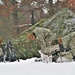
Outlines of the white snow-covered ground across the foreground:
[[0,63],[0,75],[75,75],[75,62],[43,63],[36,58]]

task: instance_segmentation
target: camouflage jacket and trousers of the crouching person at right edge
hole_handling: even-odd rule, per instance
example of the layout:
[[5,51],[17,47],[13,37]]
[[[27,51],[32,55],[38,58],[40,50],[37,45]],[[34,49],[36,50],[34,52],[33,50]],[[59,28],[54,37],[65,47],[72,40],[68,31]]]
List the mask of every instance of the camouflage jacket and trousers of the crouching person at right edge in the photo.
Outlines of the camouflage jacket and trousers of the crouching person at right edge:
[[60,56],[72,60],[75,56],[75,32],[69,33],[68,35],[62,37],[62,42],[64,48],[71,48],[71,50],[68,52],[60,52]]

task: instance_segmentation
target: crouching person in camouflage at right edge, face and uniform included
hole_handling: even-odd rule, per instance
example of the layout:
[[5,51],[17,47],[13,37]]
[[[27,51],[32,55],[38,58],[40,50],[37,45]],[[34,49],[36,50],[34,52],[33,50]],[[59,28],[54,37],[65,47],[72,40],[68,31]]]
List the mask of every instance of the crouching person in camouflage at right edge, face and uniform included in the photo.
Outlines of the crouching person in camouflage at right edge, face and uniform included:
[[75,61],[75,32],[69,33],[68,35],[58,38],[60,56],[68,58],[70,61]]

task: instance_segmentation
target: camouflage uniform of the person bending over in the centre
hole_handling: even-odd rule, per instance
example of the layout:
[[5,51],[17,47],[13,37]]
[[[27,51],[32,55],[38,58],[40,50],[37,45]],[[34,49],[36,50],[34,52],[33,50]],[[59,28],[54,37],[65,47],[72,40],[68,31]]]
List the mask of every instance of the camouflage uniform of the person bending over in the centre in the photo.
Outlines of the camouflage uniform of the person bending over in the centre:
[[36,35],[36,40],[40,42],[42,53],[50,55],[54,50],[59,49],[58,45],[51,46],[54,35],[50,29],[36,27],[33,33]]

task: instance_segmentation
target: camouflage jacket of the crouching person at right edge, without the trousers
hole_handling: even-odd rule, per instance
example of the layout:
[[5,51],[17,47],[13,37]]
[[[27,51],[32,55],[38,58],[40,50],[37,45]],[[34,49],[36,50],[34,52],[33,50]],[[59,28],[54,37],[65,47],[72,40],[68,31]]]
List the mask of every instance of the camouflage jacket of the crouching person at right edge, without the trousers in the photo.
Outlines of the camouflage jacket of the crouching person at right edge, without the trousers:
[[75,56],[75,32],[69,33],[67,36],[63,37],[63,44],[66,48],[71,48],[70,53]]

